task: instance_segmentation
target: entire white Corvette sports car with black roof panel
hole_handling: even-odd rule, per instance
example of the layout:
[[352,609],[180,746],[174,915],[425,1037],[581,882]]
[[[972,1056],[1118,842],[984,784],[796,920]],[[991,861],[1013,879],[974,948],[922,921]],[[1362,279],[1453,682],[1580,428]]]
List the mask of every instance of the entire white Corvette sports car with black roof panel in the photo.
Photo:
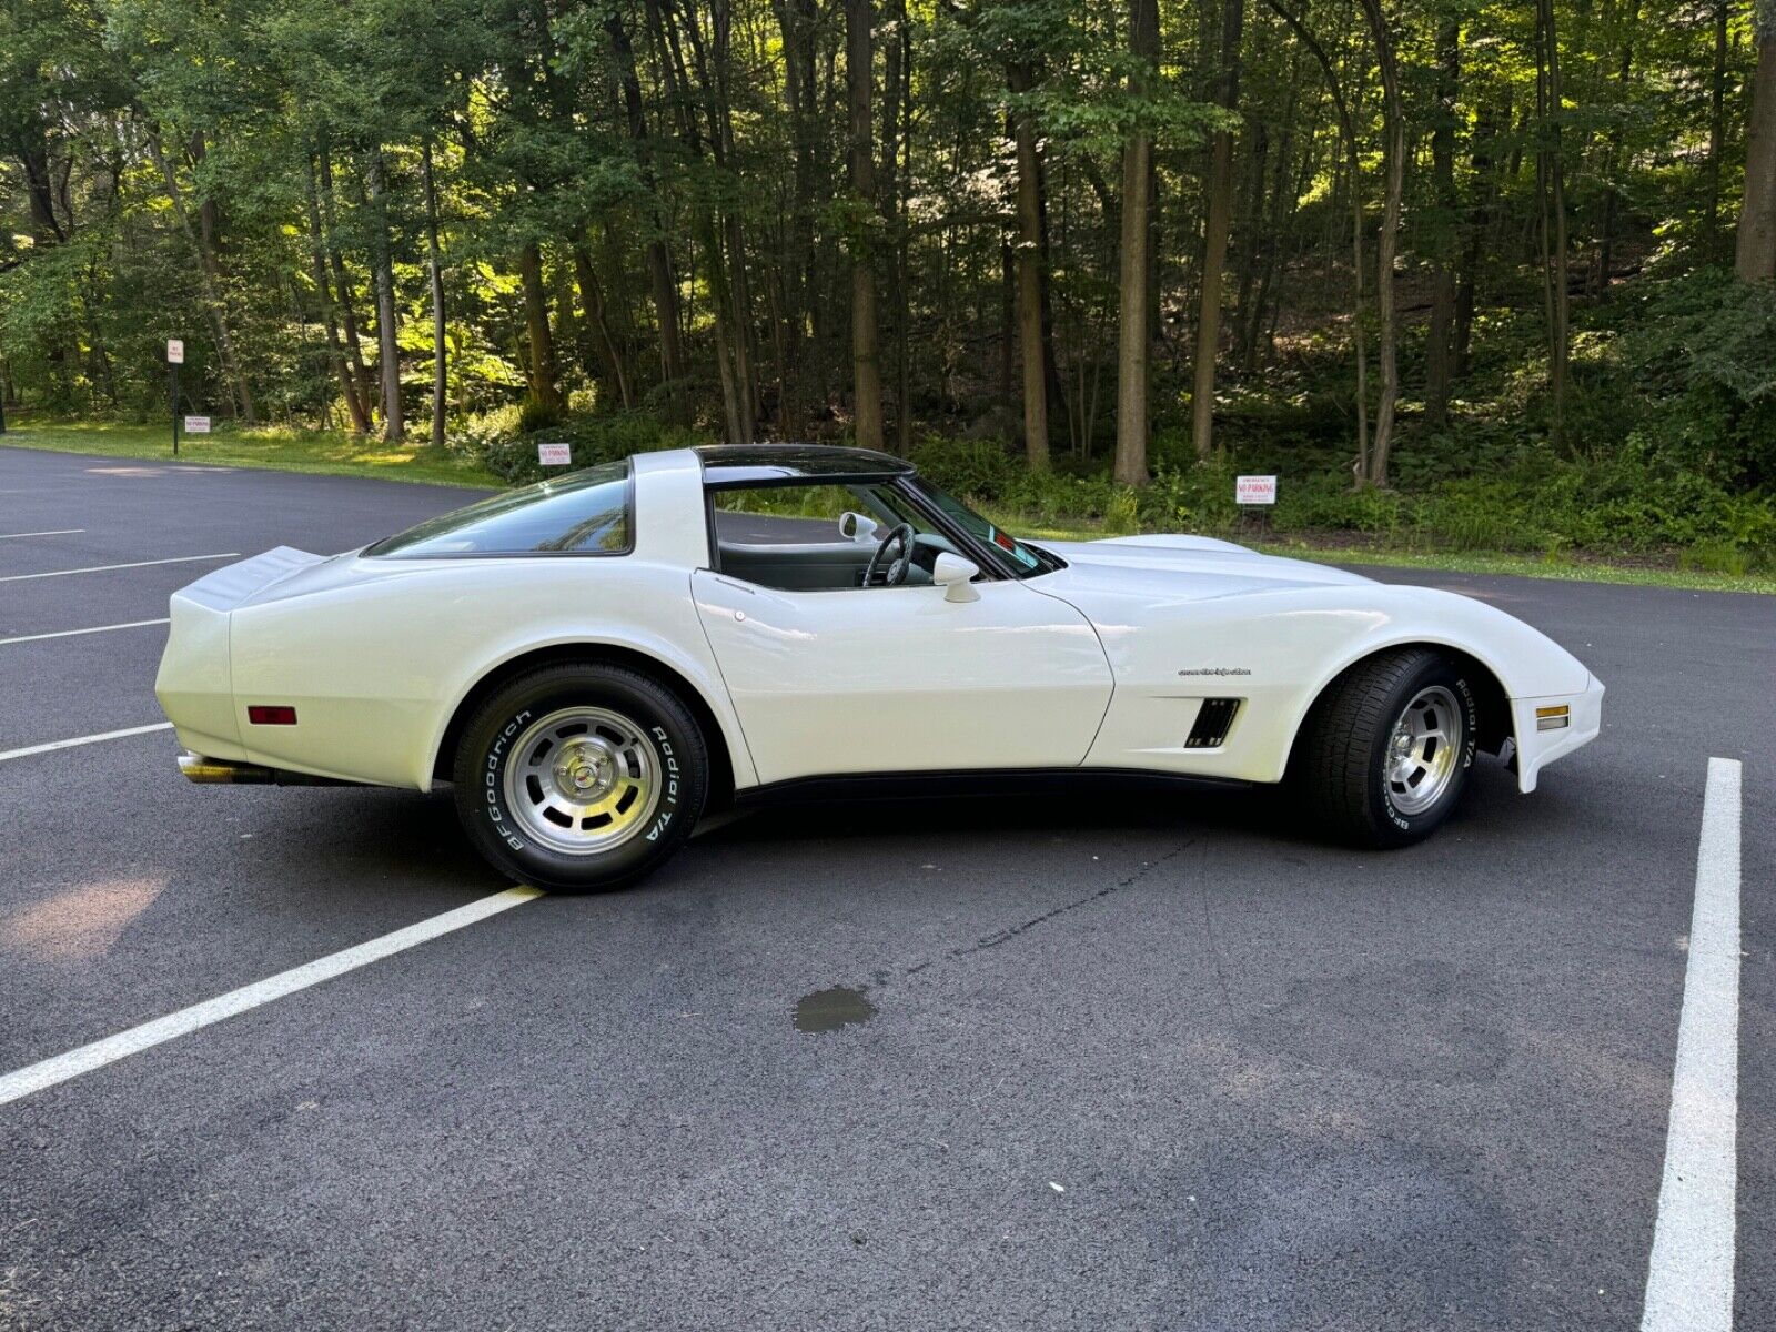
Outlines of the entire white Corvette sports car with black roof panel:
[[1398,847],[1478,749],[1522,790],[1604,686],[1465,597],[1202,536],[1023,542],[881,453],[639,455],[172,597],[194,781],[453,781],[471,842],[611,888],[718,801],[892,774],[1298,783]]

